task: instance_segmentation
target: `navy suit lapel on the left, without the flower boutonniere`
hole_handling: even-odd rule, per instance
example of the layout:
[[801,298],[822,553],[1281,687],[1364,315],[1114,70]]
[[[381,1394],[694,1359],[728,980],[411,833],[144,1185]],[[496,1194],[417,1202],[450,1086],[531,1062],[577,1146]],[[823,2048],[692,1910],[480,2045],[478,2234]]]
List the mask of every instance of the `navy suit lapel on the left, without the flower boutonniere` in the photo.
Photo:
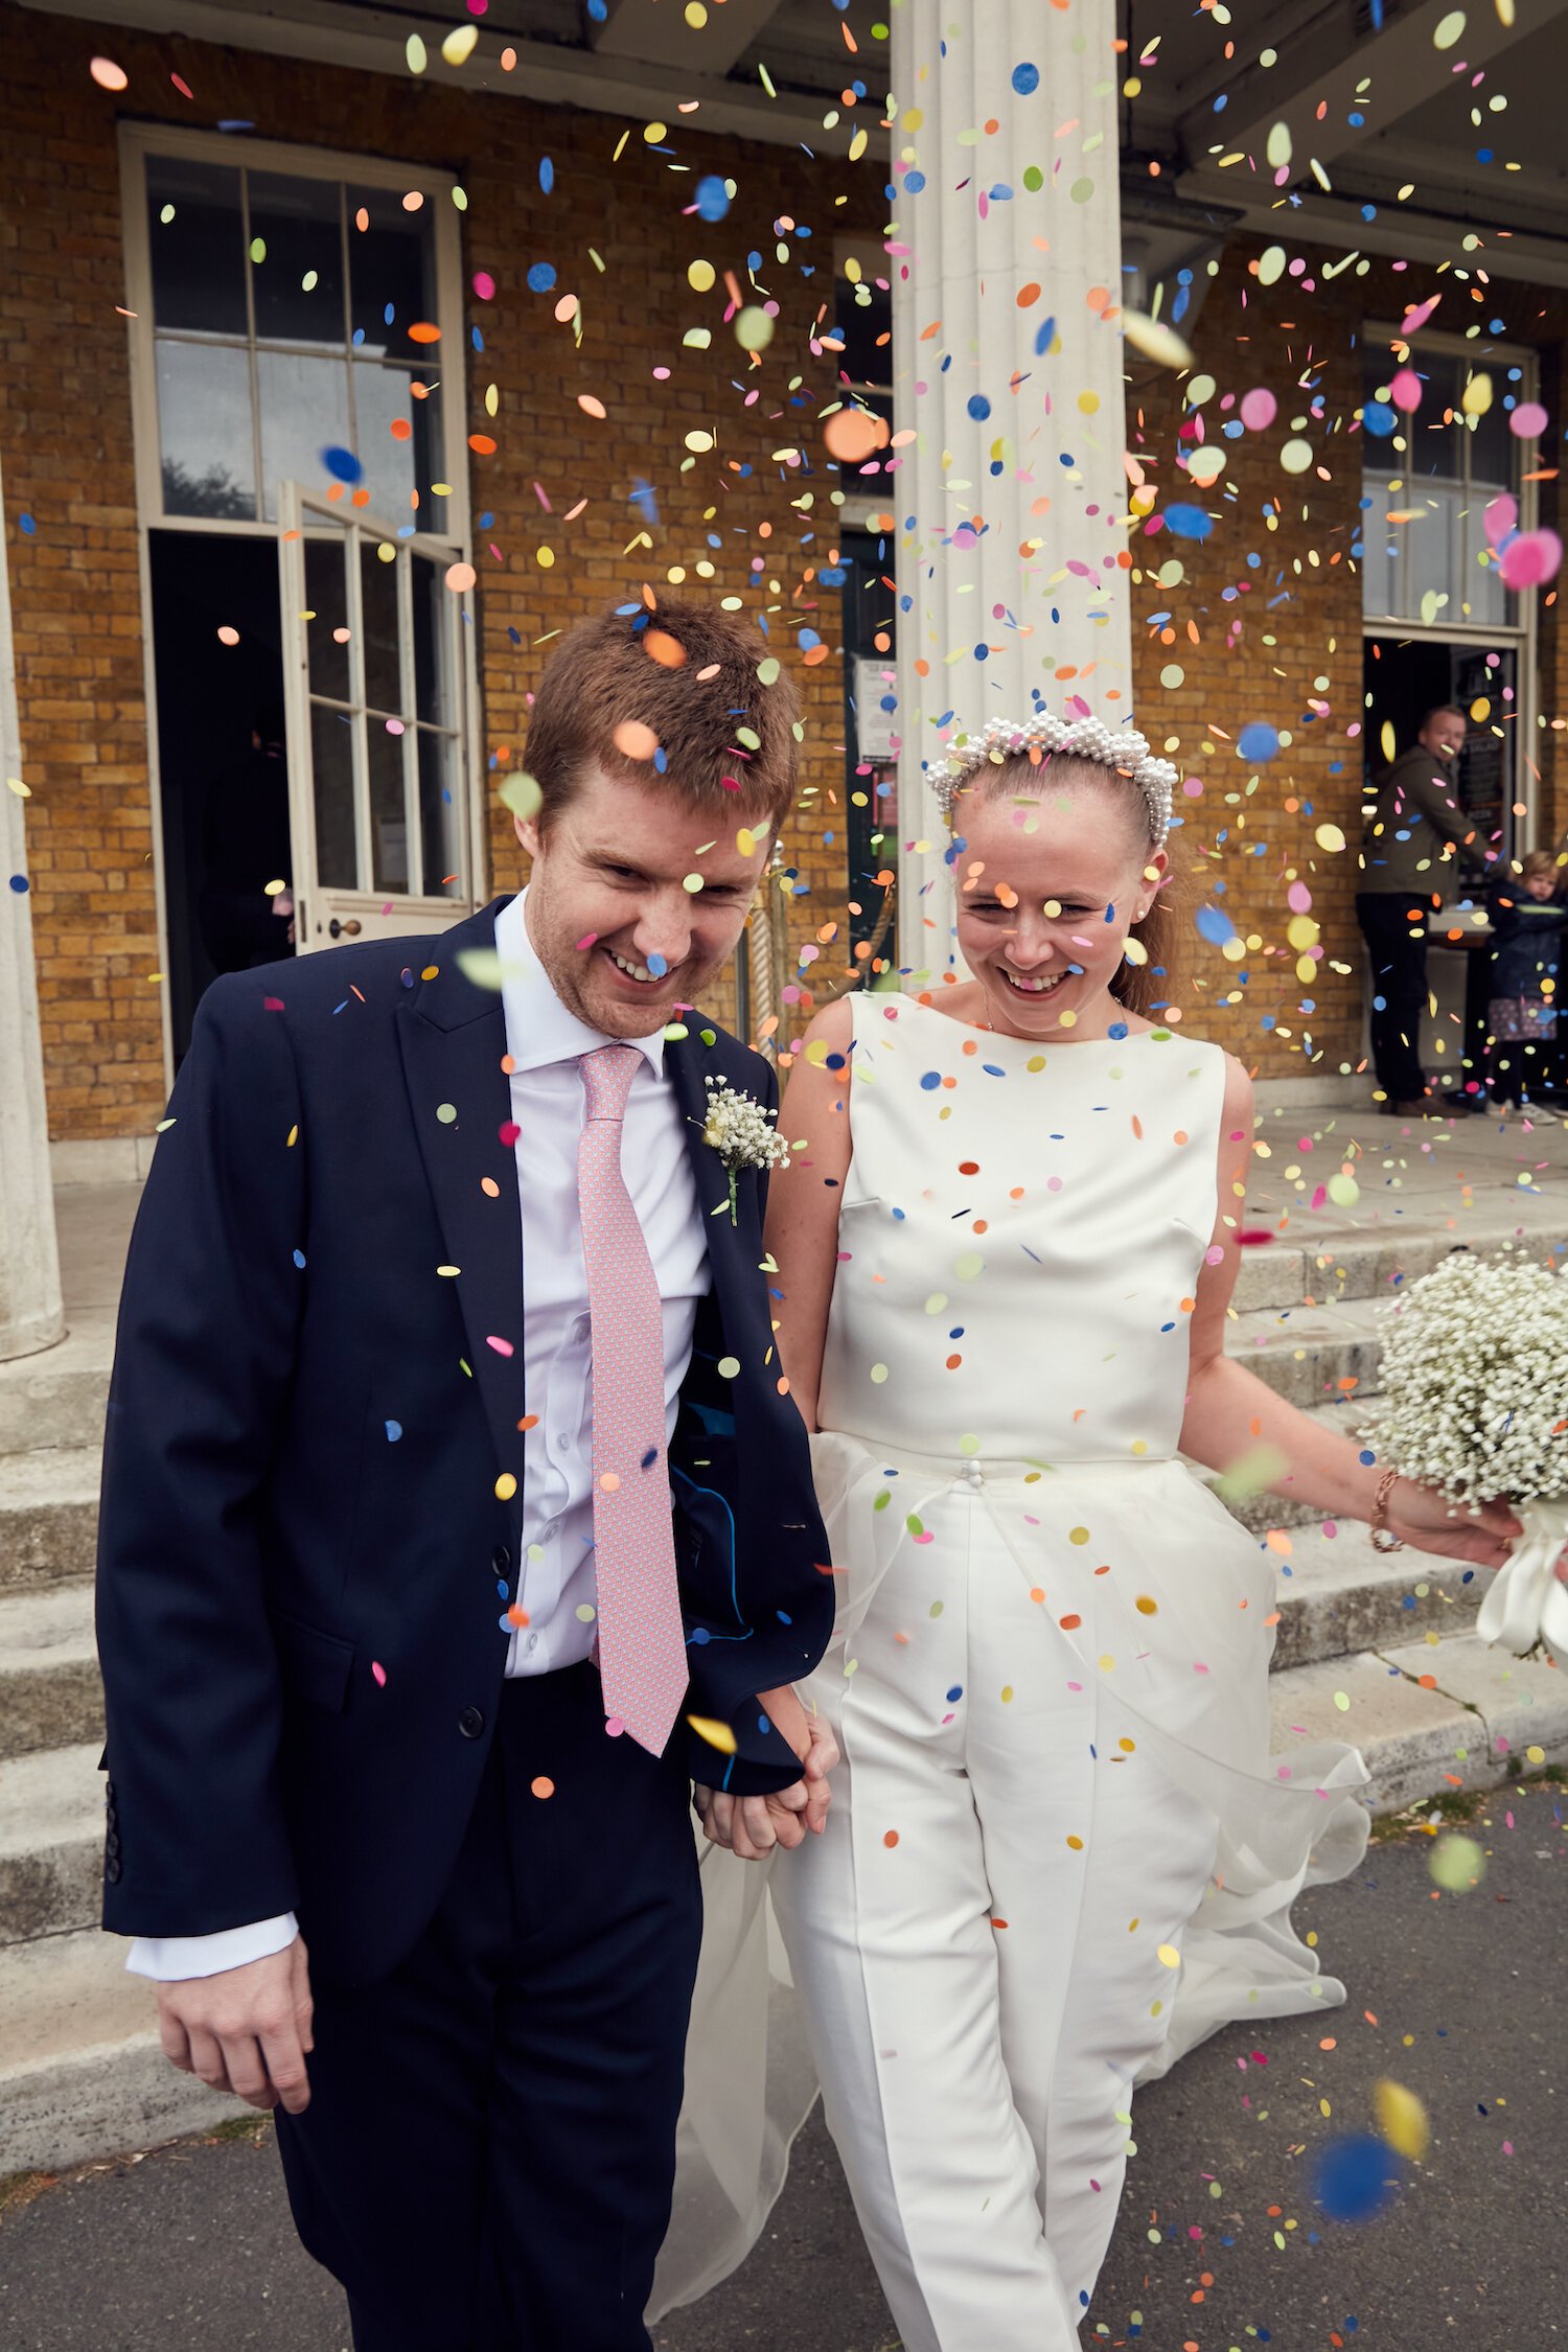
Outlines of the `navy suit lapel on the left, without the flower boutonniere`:
[[[517,1479],[515,1517],[522,1515],[522,1209],[517,1162],[501,1141],[512,1117],[512,1096],[501,1068],[505,1014],[494,988],[477,988],[458,957],[496,946],[494,906],[470,915],[442,936],[437,969],[421,978],[400,1007],[397,1044],[414,1112],[425,1178],[435,1197],[444,1263],[456,1282],[468,1369],[480,1385],[501,1472]],[[487,1190],[484,1183],[494,1185]]]

